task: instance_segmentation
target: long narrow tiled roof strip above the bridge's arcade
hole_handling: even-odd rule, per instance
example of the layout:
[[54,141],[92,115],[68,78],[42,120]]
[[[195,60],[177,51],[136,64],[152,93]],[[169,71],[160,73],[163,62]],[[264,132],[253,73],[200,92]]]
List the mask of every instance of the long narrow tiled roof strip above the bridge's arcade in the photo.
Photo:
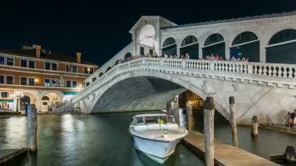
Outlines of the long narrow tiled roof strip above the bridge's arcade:
[[210,25],[210,24],[218,24],[218,23],[226,23],[226,22],[246,21],[246,20],[252,20],[252,19],[284,17],[284,16],[293,16],[293,15],[296,15],[296,11],[283,12],[283,13],[274,13],[274,14],[271,14],[271,15],[240,17],[240,18],[223,19],[223,20],[217,20],[217,21],[206,21],[206,22],[200,22],[200,23],[191,23],[191,24],[183,24],[183,25],[176,25],[176,26],[168,26],[168,27],[163,27],[162,29],[166,30],[166,29],[173,29],[173,28],[184,28],[184,27],[192,27],[192,26],[200,26],[200,25]]

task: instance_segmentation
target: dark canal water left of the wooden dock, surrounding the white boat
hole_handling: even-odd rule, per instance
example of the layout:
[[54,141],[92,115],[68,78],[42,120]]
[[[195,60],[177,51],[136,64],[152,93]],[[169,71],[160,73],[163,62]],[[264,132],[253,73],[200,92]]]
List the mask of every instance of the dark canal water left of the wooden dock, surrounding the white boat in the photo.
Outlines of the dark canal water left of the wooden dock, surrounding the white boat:
[[[128,128],[134,114],[37,116],[37,155],[19,157],[5,166],[158,166],[133,146]],[[26,147],[25,116],[2,117],[0,126],[0,149]],[[163,166],[204,163],[179,144]]]

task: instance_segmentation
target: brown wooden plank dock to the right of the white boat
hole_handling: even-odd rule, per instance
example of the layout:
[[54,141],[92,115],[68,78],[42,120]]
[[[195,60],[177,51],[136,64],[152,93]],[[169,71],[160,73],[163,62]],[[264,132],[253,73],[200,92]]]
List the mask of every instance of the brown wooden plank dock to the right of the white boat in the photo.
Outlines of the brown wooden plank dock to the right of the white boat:
[[[189,132],[183,143],[197,155],[204,157],[204,135],[199,132]],[[280,166],[243,149],[223,144],[214,140],[215,165],[218,166]]]

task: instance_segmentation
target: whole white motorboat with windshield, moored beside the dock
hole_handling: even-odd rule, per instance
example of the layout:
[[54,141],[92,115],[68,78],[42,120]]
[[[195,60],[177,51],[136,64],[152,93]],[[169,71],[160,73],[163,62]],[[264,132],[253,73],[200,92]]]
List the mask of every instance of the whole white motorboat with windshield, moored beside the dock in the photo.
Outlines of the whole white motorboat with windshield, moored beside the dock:
[[133,117],[129,133],[136,149],[158,163],[164,163],[188,131],[178,126],[173,116],[142,114]]

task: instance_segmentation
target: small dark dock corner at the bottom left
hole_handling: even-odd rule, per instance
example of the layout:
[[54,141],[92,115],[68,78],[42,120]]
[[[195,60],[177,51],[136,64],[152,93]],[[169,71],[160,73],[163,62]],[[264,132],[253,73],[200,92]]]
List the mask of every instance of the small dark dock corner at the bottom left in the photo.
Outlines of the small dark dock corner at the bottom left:
[[28,151],[28,148],[0,149],[0,163],[7,162]]

